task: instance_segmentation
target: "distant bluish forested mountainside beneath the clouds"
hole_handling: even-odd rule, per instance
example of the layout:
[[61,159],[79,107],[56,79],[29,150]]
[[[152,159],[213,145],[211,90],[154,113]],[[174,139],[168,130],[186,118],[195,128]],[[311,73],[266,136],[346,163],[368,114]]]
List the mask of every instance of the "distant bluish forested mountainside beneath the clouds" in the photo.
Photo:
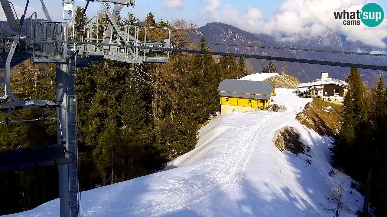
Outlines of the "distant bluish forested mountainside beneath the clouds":
[[[295,41],[280,41],[281,37],[269,36],[266,34],[252,34],[232,25],[221,22],[208,23],[198,29],[195,34],[191,35],[192,41],[198,41],[202,36],[205,36],[209,43],[222,44],[240,44],[252,46],[276,46],[276,47],[297,47],[306,49],[323,49],[336,51],[352,51],[352,52],[372,52],[380,51],[376,47],[366,46],[360,41],[352,42],[346,40],[346,36],[334,31],[327,31],[324,35],[307,39],[301,35],[293,36]],[[387,39],[385,40],[387,42]],[[374,56],[361,56],[351,54],[334,54],[334,53],[318,53],[307,51],[281,50],[281,49],[265,49],[255,47],[236,47],[236,46],[221,46],[210,45],[213,51],[222,51],[233,53],[246,53],[267,56],[283,56],[289,58],[303,58],[303,59],[319,59],[325,61],[337,61],[348,63],[374,64],[383,66],[386,65],[385,58]],[[382,50],[387,53],[387,50]],[[261,69],[267,65],[266,60],[249,59],[253,63],[255,72],[260,72]],[[282,62],[275,62],[277,71],[281,69]],[[301,82],[310,81],[315,78],[320,78],[322,66],[303,63],[286,63],[287,73],[296,77]],[[349,70],[342,67],[324,66],[324,72],[328,72],[330,77],[344,79],[349,75]],[[367,83],[374,83],[375,77],[379,75],[379,71],[374,70],[359,70],[361,79]],[[386,75],[385,75],[386,76]],[[387,77],[386,77],[387,78]]]

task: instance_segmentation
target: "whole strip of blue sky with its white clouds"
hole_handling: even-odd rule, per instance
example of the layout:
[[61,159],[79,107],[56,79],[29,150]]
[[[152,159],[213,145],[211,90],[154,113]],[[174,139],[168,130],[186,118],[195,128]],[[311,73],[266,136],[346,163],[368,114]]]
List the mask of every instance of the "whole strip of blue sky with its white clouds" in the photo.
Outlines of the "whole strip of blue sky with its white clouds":
[[[26,0],[11,1],[20,17]],[[208,22],[224,22],[257,34],[304,37],[321,36],[331,29],[345,34],[348,40],[385,48],[382,39],[387,37],[387,14],[377,27],[348,26],[343,25],[342,20],[334,19],[334,11],[360,10],[369,2],[379,3],[387,13],[387,0],[136,0],[134,8],[123,8],[121,17],[125,18],[133,10],[140,20],[144,20],[147,13],[153,12],[157,21],[186,19],[194,21],[198,27]],[[61,0],[45,0],[45,3],[51,18],[62,20]],[[75,0],[75,4],[84,7],[86,1]],[[88,17],[95,15],[99,7],[99,2],[90,2]],[[33,12],[37,12],[39,18],[45,18],[40,0],[30,0],[27,15]],[[4,19],[1,10],[0,20]],[[289,40],[295,39],[289,37]]]

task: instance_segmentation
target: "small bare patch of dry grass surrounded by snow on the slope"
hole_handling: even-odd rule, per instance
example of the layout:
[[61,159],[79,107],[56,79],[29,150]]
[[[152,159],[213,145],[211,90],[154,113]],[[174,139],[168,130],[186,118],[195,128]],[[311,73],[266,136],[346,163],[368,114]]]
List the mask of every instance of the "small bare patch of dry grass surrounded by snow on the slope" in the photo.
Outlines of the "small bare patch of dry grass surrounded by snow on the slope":
[[310,148],[300,142],[300,136],[294,131],[293,127],[286,126],[277,130],[273,140],[276,147],[281,151],[289,151],[293,154],[305,154],[306,149],[310,152]]

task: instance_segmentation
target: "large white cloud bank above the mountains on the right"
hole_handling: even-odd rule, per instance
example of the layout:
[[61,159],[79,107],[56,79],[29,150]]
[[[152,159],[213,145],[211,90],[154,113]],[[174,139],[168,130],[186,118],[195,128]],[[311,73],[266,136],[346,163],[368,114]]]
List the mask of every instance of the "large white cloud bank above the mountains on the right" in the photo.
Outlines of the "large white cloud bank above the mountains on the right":
[[387,17],[377,27],[360,25],[343,25],[342,20],[334,19],[333,12],[361,10],[369,0],[285,0],[277,8],[275,14],[265,20],[258,8],[247,7],[245,11],[237,10],[232,5],[219,9],[220,0],[202,0],[207,3],[206,9],[212,20],[234,25],[252,33],[270,35],[291,34],[287,38],[296,40],[303,37],[316,37],[324,34],[327,29],[341,32],[347,40],[361,41],[364,44],[385,48],[382,41],[387,37]]

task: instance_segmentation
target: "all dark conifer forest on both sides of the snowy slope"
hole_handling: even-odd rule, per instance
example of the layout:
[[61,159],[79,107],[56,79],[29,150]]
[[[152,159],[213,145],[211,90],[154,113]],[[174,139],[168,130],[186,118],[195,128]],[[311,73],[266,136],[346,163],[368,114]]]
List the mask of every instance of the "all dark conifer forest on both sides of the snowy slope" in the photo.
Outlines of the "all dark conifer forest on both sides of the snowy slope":
[[[106,7],[111,9],[108,3]],[[76,27],[84,26],[94,16],[82,18],[82,10],[77,7]],[[102,9],[96,17],[99,23],[108,21]],[[168,27],[171,40],[180,41],[176,42],[176,48],[210,51],[204,36],[198,44],[181,42],[189,41],[190,35],[197,31],[194,22],[155,20],[154,17],[150,12],[145,20],[140,20],[129,12],[119,17],[117,24]],[[165,38],[163,34],[153,29],[147,32],[147,37],[158,40]],[[276,69],[276,64],[269,61],[260,72],[286,74],[286,64],[282,64],[281,70]],[[219,111],[219,83],[254,73],[251,65],[243,58],[174,53],[165,64],[134,65],[105,60],[78,68],[80,191],[156,173],[169,161],[194,149],[200,127]],[[55,64],[34,64],[29,60],[14,67],[11,83],[15,95],[24,100],[55,101],[55,67]],[[349,86],[341,106],[341,127],[330,146],[330,160],[337,171],[357,182],[351,187],[366,197],[365,202],[372,205],[374,216],[387,216],[384,75],[380,72],[374,84],[366,85],[357,68],[348,68],[348,71]],[[42,114],[42,109],[18,110],[12,118],[34,119]],[[56,112],[52,110],[50,115],[55,116]],[[0,114],[0,119],[4,117],[5,114]],[[55,144],[57,136],[57,123],[53,120],[1,124],[0,150]],[[0,173],[0,189],[2,195],[8,195],[0,197],[0,204],[5,207],[0,209],[0,215],[33,209],[59,197],[58,168]]]

